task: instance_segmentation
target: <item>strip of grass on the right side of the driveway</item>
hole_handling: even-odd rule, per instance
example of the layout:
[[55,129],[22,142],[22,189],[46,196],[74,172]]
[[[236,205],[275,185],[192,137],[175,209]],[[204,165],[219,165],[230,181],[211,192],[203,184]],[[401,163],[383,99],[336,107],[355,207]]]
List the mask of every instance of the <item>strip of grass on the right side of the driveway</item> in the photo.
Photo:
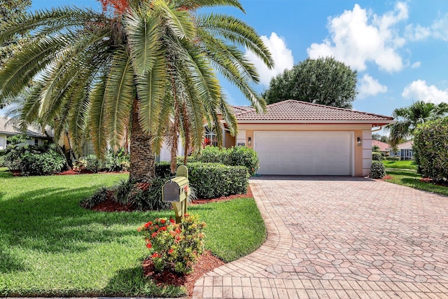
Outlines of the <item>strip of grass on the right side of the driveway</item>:
[[448,196],[448,187],[420,181],[421,176],[412,170],[388,170],[386,173],[392,179],[385,181]]

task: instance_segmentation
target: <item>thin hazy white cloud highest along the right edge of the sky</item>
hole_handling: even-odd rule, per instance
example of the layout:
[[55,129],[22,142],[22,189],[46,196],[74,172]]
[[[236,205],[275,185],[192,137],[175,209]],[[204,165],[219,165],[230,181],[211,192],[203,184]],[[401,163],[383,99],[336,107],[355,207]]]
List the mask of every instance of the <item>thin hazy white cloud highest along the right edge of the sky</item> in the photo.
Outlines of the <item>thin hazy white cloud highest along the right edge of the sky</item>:
[[419,24],[408,25],[406,27],[406,37],[411,41],[421,41],[422,39],[440,39],[448,41],[448,13],[442,18],[435,20],[432,25],[423,27]]

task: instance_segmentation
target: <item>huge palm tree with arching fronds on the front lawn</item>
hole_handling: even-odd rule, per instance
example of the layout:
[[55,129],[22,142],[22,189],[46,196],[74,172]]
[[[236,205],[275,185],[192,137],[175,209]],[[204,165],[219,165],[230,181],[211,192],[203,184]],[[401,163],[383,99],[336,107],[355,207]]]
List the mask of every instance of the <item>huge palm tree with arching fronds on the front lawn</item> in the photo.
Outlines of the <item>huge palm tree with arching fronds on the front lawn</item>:
[[[230,15],[200,8],[233,6],[237,0],[102,0],[115,11],[52,8],[26,13],[0,26],[0,43],[29,32],[27,44],[0,71],[1,98],[14,97],[33,81],[21,118],[57,120],[55,137],[69,128],[80,152],[87,134],[100,157],[118,146],[131,123],[130,179],[150,181],[154,151],[182,107],[180,132],[200,148],[204,120],[218,126],[218,111],[232,133],[237,123],[216,71],[235,84],[257,111],[265,101],[253,90],[255,67],[241,46],[267,66],[273,62],[254,29]],[[187,124],[186,125],[183,124]],[[218,139],[222,140],[221,130]]]

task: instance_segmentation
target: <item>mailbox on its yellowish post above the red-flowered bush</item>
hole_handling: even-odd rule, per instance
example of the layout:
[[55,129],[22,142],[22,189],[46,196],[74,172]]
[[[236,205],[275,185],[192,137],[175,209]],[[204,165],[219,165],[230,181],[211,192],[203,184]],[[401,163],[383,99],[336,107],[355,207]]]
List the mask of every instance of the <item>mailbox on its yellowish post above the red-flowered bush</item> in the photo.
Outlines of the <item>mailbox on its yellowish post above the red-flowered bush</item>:
[[167,181],[162,189],[162,200],[172,203],[176,223],[180,223],[183,215],[187,213],[189,195],[188,169],[185,165],[180,165],[176,169],[176,177]]

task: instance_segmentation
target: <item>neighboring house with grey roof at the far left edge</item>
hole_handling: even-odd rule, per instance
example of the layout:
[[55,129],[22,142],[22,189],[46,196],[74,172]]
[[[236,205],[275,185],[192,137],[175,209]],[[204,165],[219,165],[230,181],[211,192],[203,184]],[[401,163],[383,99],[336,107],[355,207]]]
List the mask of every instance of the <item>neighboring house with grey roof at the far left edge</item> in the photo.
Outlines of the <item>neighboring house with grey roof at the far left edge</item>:
[[[8,141],[6,139],[11,136],[20,135],[24,132],[20,131],[18,125],[15,125],[10,118],[0,116],[0,150],[5,149]],[[25,134],[31,139],[27,140],[27,144],[32,144],[36,146],[43,146],[45,141],[51,140],[52,135],[50,132],[44,134],[41,130],[36,127],[29,126]]]

